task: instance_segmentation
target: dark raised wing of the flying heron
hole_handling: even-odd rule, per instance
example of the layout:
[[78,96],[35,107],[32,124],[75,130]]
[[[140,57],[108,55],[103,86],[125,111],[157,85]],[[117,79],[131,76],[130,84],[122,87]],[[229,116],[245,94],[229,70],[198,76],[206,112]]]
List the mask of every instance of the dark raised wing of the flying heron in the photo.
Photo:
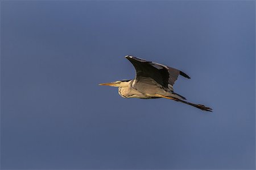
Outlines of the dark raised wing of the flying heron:
[[133,56],[125,56],[131,64],[134,65],[136,70],[137,80],[142,77],[151,77],[160,85],[168,88],[168,85],[174,85],[174,82],[177,80],[179,74],[183,77],[190,78],[187,74],[166,65],[154,63],[152,61],[147,61],[139,59]]

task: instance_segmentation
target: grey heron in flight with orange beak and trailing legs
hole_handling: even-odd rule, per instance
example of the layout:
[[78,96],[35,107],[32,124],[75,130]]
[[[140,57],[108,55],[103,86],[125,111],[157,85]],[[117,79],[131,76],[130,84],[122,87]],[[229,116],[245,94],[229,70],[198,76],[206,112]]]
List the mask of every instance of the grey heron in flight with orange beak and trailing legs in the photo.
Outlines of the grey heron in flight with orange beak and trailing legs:
[[201,110],[212,111],[210,107],[185,101],[186,98],[174,93],[174,82],[179,75],[190,78],[187,74],[168,67],[163,64],[154,63],[134,56],[125,56],[136,70],[133,80],[118,80],[114,82],[101,83],[118,87],[118,93],[124,98],[167,98],[187,105],[197,107]]

